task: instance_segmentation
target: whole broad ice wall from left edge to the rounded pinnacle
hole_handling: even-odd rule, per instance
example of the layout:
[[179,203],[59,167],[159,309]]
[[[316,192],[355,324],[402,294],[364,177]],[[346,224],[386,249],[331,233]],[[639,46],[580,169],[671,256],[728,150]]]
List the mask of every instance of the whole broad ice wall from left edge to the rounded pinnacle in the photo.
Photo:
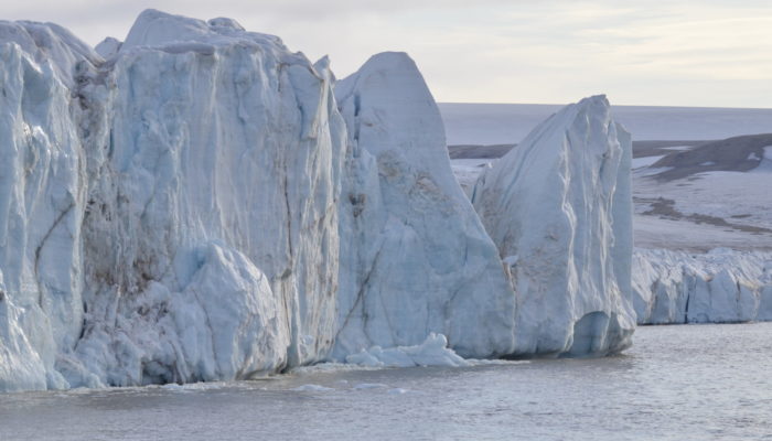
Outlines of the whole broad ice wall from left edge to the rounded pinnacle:
[[158,11],[108,63],[54,25],[0,41],[0,388],[326,356],[345,127],[325,62]]

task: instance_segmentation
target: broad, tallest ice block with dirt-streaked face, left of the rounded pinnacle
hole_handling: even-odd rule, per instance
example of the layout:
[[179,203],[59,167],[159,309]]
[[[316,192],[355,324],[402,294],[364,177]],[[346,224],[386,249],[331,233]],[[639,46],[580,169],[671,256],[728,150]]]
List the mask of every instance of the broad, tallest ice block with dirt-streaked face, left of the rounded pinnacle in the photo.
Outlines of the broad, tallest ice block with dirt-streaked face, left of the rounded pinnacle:
[[87,136],[88,311],[62,370],[191,381],[324,357],[345,137],[326,63],[150,10],[84,95],[107,117]]

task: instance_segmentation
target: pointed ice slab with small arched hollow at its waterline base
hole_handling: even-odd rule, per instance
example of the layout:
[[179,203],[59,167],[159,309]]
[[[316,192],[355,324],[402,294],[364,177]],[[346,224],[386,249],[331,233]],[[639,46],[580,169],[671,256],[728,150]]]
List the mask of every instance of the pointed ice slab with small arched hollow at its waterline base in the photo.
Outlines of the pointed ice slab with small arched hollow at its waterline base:
[[630,135],[604,96],[567,106],[484,171],[472,194],[516,293],[515,352],[631,344]]

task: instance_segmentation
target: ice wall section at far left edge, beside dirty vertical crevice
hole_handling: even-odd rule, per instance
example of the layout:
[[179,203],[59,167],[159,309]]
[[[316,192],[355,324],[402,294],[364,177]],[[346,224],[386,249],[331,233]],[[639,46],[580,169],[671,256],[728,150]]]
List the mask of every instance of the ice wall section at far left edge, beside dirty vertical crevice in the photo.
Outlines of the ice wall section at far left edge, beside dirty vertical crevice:
[[0,22],[0,390],[66,386],[54,363],[83,321],[85,200],[69,73],[98,60],[54,24]]

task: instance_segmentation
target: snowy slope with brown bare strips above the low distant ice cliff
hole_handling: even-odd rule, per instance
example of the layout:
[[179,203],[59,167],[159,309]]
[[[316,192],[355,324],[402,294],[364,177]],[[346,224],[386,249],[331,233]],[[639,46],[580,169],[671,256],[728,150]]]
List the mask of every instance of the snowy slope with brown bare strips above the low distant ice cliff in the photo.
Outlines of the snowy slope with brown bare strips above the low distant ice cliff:
[[[641,158],[647,159],[647,158]],[[633,173],[635,245],[707,251],[772,250],[772,160],[750,171],[710,171],[658,180],[660,169]]]

